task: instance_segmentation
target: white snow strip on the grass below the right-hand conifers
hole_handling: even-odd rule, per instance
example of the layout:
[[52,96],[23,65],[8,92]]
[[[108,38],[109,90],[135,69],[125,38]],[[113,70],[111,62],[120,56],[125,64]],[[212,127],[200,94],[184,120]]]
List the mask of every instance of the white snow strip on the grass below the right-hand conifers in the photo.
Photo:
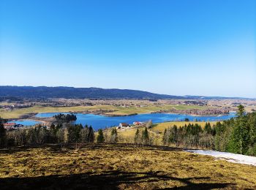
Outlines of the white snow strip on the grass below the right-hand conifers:
[[256,157],[255,156],[246,156],[238,153],[225,153],[218,151],[205,151],[205,150],[186,150],[191,153],[199,153],[202,155],[214,156],[218,159],[225,159],[227,161],[238,163],[238,164],[247,164],[256,166]]

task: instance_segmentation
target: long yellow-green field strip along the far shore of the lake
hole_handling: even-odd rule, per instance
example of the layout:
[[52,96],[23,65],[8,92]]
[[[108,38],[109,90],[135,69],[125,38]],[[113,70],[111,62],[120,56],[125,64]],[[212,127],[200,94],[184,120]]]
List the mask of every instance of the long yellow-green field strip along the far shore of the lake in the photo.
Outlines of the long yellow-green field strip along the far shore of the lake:
[[[22,108],[18,110],[0,109],[1,118],[20,118],[21,115],[28,113],[50,113],[50,112],[93,112],[97,110],[105,110],[108,115],[129,115],[136,113],[151,113],[160,110],[177,110],[188,109],[206,109],[207,107],[193,105],[149,105],[147,107],[116,107],[112,105],[94,105],[94,106],[76,106],[76,107],[42,107],[34,106]],[[110,112],[108,112],[110,111]]]

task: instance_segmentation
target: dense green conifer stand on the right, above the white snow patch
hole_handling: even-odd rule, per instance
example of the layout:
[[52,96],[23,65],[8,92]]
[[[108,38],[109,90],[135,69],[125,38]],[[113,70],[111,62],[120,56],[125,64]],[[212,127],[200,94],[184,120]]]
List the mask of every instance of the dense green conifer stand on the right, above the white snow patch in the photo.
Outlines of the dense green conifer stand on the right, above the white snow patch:
[[241,153],[256,156],[256,113],[245,113],[242,105],[238,106],[236,118],[211,126],[188,124],[165,129],[162,142],[164,145],[208,148],[216,151]]

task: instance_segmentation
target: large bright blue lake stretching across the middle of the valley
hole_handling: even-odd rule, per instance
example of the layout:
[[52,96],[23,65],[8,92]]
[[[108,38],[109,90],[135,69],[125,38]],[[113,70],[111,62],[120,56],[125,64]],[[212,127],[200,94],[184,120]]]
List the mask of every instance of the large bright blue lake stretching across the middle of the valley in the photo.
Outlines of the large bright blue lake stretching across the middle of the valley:
[[[57,114],[59,113],[38,113],[35,116],[38,118],[48,118]],[[185,118],[189,118],[189,121],[195,121],[195,119],[197,119],[197,121],[222,121],[233,118],[235,114],[236,113],[230,113],[229,115],[221,116],[194,116],[175,113],[147,113],[129,116],[108,117],[104,115],[75,113],[77,116],[77,121],[74,123],[82,123],[83,125],[88,124],[91,125],[94,130],[97,130],[110,126],[118,126],[119,123],[132,124],[134,121],[151,120],[153,123],[161,123],[166,121],[184,121]]]

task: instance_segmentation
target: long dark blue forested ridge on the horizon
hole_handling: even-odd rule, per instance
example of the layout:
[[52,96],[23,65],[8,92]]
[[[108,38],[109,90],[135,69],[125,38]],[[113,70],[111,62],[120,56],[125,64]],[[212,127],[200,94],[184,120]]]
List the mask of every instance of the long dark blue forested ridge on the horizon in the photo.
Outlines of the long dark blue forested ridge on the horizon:
[[0,96],[72,99],[246,99],[211,96],[173,96],[118,88],[47,86],[0,86]]

